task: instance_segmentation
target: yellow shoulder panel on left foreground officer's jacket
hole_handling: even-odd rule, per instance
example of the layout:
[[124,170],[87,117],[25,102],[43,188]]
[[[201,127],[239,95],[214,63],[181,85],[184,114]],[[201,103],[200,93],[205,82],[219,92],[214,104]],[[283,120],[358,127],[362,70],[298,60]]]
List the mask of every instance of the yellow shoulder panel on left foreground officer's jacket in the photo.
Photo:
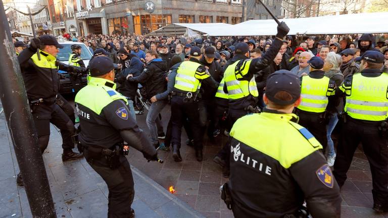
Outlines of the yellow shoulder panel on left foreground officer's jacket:
[[[128,103],[127,99],[115,90],[116,84],[111,88],[106,86],[106,83],[113,82],[102,78],[90,77],[87,86],[79,90],[75,96],[75,102],[82,104],[98,115],[101,114],[105,106],[114,100],[122,99],[125,103]],[[96,101],[95,98],[99,100]]]

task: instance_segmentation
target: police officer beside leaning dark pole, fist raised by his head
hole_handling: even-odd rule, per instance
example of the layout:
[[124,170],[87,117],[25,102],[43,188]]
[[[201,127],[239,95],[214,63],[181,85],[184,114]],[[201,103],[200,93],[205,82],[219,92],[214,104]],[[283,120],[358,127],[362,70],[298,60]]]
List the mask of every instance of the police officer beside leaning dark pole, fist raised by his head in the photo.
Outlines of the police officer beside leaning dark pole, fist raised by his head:
[[[37,55],[40,48],[40,58]],[[83,155],[72,151],[74,144],[71,137],[75,133],[72,121],[56,103],[59,91],[58,69],[68,72],[82,71],[82,69],[57,62],[58,48],[63,48],[54,36],[43,35],[40,39],[34,38],[28,48],[18,56],[20,69],[23,75],[27,97],[34,119],[38,144],[43,153],[49,144],[50,123],[61,130],[62,161],[82,158]],[[22,177],[18,175],[18,185],[22,185]]]

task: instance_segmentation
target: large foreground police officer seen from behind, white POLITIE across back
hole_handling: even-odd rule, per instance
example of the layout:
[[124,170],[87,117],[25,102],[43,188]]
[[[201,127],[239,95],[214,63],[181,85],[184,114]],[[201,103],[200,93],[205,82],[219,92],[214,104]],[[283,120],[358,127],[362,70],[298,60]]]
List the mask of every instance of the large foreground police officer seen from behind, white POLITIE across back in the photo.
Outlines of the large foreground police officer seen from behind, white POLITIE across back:
[[322,146],[292,114],[300,93],[298,77],[277,71],[268,77],[263,113],[232,127],[230,178],[223,191],[230,190],[235,217],[307,217],[298,216],[304,201],[314,218],[340,217],[340,188],[319,152]]

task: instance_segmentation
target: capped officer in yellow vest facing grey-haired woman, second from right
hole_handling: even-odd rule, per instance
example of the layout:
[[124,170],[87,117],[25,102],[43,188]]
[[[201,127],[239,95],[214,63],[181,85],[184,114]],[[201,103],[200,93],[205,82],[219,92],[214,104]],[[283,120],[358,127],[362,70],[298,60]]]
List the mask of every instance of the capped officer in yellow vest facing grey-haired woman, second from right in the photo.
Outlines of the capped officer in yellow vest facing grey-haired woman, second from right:
[[334,80],[324,76],[322,70],[324,61],[320,57],[313,57],[308,62],[310,73],[301,77],[302,102],[296,108],[299,124],[306,127],[323,146],[323,153],[327,146],[326,137],[326,107],[335,106]]

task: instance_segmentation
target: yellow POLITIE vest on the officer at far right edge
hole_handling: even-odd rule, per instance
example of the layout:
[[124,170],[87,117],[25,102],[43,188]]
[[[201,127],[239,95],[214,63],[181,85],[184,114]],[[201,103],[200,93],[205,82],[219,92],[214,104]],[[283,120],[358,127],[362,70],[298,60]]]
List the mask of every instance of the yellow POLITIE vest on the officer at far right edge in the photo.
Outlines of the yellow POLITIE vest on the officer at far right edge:
[[388,118],[388,74],[365,77],[353,75],[340,89],[346,94],[345,112],[354,119],[383,121]]

